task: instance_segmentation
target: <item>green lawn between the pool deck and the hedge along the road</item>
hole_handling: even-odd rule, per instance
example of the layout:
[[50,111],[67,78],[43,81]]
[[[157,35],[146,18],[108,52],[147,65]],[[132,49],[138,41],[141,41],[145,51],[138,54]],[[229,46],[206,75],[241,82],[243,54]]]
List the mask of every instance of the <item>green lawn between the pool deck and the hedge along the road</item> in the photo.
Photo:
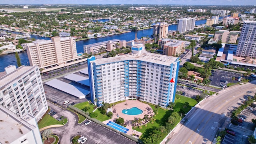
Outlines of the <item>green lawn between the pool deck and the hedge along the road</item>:
[[[150,105],[150,107],[155,110],[155,107]],[[159,126],[165,126],[165,122],[168,120],[168,117],[171,115],[172,110],[163,110],[161,108],[158,109],[158,114],[154,117],[156,121],[154,121],[154,124],[151,122],[148,122],[147,127],[142,126],[142,129],[136,127],[134,130],[137,130],[139,132],[142,132],[144,135],[149,135],[148,132],[150,132],[152,129],[155,129]]]

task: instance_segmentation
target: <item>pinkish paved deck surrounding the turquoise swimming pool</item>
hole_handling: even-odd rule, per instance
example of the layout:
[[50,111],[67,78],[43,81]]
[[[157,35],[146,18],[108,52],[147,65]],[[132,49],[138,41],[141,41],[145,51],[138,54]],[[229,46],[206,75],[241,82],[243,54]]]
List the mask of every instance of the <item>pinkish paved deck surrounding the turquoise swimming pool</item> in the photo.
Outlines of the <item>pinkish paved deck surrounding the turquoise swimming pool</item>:
[[[132,107],[139,108],[140,110],[143,111],[143,113],[139,114],[139,115],[127,115],[127,114],[122,113],[123,109],[130,109]],[[154,115],[153,109],[148,104],[145,104],[138,100],[126,100],[125,102],[116,104],[115,106],[112,107],[112,112],[113,112],[113,117],[109,120],[104,121],[103,122],[104,124],[107,124],[109,121],[113,122],[114,119],[119,118],[119,117],[124,118],[124,123],[127,124],[126,128],[129,129],[126,134],[128,134],[128,135],[136,134],[139,136],[141,136],[142,133],[137,132],[136,130],[132,130],[131,120],[134,120],[134,118],[143,119],[145,114],[148,114],[149,117]],[[143,120],[143,122],[144,122],[144,120]]]

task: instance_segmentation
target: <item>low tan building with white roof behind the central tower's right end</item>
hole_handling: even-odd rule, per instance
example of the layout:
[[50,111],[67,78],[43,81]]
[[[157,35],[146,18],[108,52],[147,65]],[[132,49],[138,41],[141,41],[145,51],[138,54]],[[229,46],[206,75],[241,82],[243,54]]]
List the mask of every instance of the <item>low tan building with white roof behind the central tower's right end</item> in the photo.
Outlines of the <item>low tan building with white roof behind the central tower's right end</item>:
[[176,54],[181,54],[184,51],[185,42],[183,40],[162,38],[158,40],[158,45],[161,46],[164,55],[176,56]]

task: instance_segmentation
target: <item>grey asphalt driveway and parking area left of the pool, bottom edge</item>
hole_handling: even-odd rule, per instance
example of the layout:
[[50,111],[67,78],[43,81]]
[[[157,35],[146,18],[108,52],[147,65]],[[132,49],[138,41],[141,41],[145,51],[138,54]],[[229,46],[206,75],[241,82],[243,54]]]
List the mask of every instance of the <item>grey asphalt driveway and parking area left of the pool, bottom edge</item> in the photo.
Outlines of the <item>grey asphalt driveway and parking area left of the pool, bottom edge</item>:
[[68,144],[76,135],[83,135],[88,138],[88,144],[136,144],[136,142],[117,134],[103,126],[91,122],[88,126],[78,124],[78,116],[69,110],[48,102],[48,106],[57,112],[57,116],[65,116],[68,123],[62,127],[50,128],[53,134],[60,137],[60,144]]

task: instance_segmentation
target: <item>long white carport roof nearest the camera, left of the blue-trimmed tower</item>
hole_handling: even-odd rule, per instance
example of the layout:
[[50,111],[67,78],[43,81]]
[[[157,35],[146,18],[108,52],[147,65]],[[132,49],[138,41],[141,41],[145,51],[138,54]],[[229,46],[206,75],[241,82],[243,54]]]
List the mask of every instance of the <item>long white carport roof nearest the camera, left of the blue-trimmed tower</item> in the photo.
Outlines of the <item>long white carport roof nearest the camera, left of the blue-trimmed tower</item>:
[[[78,90],[77,87],[67,84],[66,82],[62,82],[57,79],[50,80],[49,82],[46,82],[48,86],[52,86],[58,90],[61,90],[63,92],[66,92],[68,94],[71,94],[72,96],[75,96],[79,99],[85,98],[85,94],[83,94],[80,90]],[[87,91],[87,90],[86,90]]]

